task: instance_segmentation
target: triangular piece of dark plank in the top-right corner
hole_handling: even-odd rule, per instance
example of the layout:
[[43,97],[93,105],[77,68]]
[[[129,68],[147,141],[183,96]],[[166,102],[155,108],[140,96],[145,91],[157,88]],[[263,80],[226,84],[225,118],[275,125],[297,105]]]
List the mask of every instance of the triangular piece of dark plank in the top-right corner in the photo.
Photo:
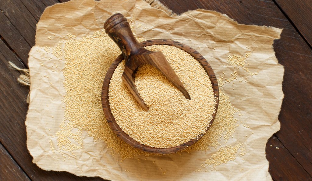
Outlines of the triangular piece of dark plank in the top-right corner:
[[312,46],[312,1],[274,0]]

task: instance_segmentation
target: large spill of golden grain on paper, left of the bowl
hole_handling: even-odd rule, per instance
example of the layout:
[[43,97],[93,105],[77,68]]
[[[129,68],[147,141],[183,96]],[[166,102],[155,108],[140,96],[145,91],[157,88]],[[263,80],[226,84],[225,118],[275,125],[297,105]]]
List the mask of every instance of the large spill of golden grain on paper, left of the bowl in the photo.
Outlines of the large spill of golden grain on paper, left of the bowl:
[[[120,140],[105,120],[101,105],[101,90],[107,69],[121,53],[117,45],[104,31],[96,31],[82,39],[58,43],[53,55],[64,58],[64,121],[56,133],[58,146],[63,151],[79,150],[82,147],[82,131],[94,141],[103,140],[121,159],[135,155],[153,155],[139,151]],[[65,38],[65,37],[64,37]],[[140,39],[138,40],[140,41]]]

